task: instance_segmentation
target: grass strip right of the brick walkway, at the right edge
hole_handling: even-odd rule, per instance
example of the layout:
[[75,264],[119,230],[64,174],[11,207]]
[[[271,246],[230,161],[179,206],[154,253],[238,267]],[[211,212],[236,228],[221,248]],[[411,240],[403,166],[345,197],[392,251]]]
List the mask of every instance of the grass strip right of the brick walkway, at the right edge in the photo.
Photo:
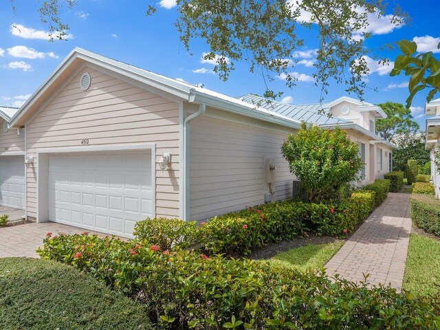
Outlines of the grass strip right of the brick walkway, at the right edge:
[[412,294],[440,294],[440,241],[411,234],[406,259],[404,289]]

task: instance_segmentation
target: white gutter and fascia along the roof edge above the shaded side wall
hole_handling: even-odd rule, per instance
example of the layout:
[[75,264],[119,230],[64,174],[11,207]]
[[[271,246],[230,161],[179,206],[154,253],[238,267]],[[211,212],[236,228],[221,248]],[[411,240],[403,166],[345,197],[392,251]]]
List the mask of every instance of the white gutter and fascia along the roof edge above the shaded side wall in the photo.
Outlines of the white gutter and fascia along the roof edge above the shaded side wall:
[[222,100],[215,96],[210,96],[207,94],[201,94],[198,91],[194,91],[195,98],[193,102],[205,103],[209,107],[221,109],[223,111],[228,111],[231,113],[236,113],[239,115],[245,115],[250,118],[255,118],[258,120],[263,120],[265,122],[270,122],[272,124],[279,124],[281,126],[286,126],[292,129],[300,129],[301,123],[291,120],[289,118],[283,118],[278,113],[272,113],[271,111],[265,109],[251,109],[245,105],[236,104],[235,102],[230,102],[228,100]]

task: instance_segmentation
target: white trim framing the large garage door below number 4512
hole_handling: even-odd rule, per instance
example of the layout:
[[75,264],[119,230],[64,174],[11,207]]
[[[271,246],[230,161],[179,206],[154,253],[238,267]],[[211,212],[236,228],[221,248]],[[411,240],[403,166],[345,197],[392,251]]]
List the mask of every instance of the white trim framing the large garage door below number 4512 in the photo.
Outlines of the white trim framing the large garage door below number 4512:
[[[62,147],[62,148],[39,148],[36,168],[36,222],[44,222],[48,219],[49,201],[47,200],[47,180],[49,178],[49,155],[52,153],[88,153],[98,151],[151,151],[151,195],[153,195],[152,214],[156,217],[156,144],[111,144],[101,146]],[[44,171],[44,173],[43,173]]]

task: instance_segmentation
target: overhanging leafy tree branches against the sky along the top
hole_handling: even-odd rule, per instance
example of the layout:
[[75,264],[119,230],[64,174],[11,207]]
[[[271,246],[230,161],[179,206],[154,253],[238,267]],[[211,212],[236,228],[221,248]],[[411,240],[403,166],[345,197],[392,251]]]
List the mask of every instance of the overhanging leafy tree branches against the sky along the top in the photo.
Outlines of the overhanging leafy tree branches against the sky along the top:
[[[16,0],[10,0],[12,5]],[[369,15],[384,17],[382,0],[176,0],[179,17],[175,26],[180,39],[190,51],[191,41],[203,39],[210,46],[206,60],[215,60],[221,79],[228,80],[238,61],[248,61],[250,72],[261,72],[265,81],[276,76],[287,87],[298,77],[292,68],[298,63],[294,52],[303,49],[305,40],[298,36],[301,28],[317,33],[316,68],[313,74],[322,95],[332,81],[342,83],[347,92],[362,99],[368,74],[364,56],[369,49],[364,39],[371,35]],[[41,5],[41,21],[47,23],[55,38],[63,39],[69,29],[60,17],[63,5],[72,7],[75,0],[50,0]],[[149,5],[146,14],[154,14]],[[393,8],[392,23],[404,23],[407,15],[399,6]],[[382,58],[383,64],[388,60]],[[267,85],[266,85],[267,86]],[[267,86],[265,97],[276,97]]]

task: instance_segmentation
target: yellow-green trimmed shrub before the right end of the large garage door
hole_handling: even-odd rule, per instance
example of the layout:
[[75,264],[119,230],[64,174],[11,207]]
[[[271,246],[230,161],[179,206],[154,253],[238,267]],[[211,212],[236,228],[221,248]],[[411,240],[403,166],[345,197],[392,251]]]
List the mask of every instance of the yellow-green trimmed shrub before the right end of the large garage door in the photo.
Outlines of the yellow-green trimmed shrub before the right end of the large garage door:
[[137,221],[133,234],[138,239],[158,245],[162,250],[169,250],[174,245],[187,248],[196,243],[197,225],[195,221],[179,219],[147,218]]

